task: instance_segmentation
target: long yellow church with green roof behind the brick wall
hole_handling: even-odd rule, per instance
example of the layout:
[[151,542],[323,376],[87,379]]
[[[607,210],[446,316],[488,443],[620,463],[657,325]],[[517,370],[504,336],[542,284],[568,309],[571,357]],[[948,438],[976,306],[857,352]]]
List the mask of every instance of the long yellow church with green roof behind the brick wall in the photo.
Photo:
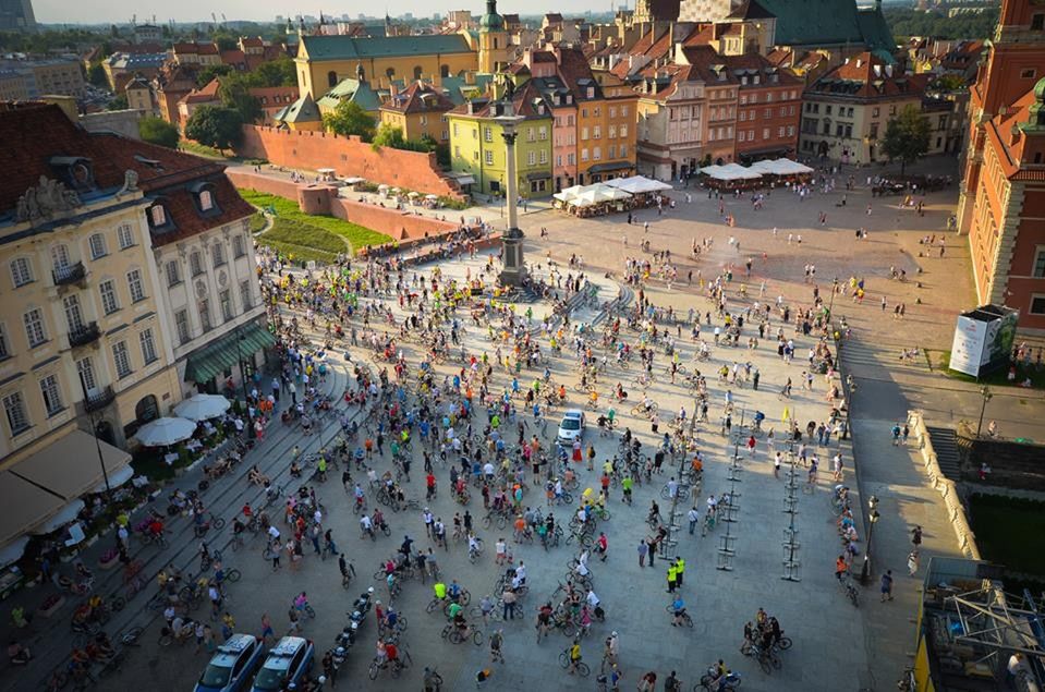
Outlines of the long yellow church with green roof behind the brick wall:
[[436,74],[451,76],[475,71],[477,56],[461,34],[302,36],[294,62],[301,95],[316,100],[345,77],[376,83],[380,77],[411,81]]

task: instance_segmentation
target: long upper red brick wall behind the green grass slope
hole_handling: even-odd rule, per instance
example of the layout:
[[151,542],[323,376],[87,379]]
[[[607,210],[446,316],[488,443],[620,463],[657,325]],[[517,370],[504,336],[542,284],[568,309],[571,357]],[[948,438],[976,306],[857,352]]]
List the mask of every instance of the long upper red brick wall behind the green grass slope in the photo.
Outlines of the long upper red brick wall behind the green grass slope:
[[246,158],[266,159],[277,166],[300,170],[332,168],[338,175],[359,175],[372,182],[425,194],[458,194],[440,174],[435,154],[390,147],[375,151],[369,144],[355,136],[244,125],[243,144],[236,153]]

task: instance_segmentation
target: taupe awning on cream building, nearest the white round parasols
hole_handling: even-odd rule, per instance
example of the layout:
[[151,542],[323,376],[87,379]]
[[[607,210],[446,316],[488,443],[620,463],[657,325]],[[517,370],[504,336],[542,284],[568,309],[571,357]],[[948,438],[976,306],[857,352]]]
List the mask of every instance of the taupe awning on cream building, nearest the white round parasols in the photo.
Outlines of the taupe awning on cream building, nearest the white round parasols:
[[[97,447],[101,448],[101,462]],[[131,463],[131,454],[122,449],[101,440],[97,440],[97,447],[92,435],[73,430],[12,466],[10,473],[69,502],[105,483],[101,463],[110,476]]]

